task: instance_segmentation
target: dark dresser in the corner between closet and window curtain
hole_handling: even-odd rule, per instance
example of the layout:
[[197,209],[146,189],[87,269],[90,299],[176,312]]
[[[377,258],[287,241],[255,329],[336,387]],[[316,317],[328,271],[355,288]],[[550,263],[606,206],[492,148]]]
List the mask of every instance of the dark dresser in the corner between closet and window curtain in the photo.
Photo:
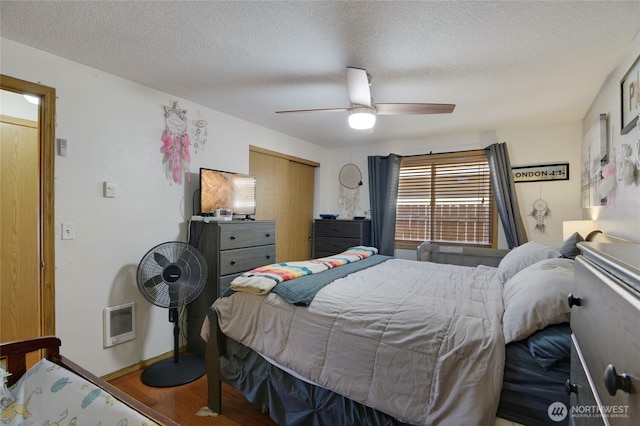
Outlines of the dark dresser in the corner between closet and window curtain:
[[370,220],[316,219],[313,221],[313,253],[311,256],[331,256],[349,247],[371,244]]

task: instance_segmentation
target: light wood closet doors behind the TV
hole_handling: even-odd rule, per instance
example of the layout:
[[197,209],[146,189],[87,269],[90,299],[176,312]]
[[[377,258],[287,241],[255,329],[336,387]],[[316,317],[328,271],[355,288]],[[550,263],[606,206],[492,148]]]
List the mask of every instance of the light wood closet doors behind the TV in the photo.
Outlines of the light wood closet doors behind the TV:
[[256,219],[276,221],[276,262],[311,258],[315,167],[308,160],[251,147]]

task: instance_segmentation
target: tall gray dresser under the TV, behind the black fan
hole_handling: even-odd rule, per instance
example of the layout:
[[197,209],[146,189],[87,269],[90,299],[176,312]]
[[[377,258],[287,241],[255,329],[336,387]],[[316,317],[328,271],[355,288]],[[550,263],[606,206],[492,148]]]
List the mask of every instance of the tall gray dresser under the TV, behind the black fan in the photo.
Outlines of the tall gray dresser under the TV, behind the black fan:
[[187,306],[187,344],[189,352],[204,356],[200,337],[202,322],[211,304],[243,272],[275,262],[275,221],[192,222],[189,244],[207,260],[207,285]]

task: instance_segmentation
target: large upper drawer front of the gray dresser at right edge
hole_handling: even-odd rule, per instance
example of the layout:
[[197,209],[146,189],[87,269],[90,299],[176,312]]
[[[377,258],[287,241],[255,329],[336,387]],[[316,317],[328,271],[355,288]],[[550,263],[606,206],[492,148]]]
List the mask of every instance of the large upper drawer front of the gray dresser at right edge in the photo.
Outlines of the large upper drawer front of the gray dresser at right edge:
[[[571,329],[603,406],[627,410],[624,416],[609,418],[609,423],[632,424],[632,419],[640,418],[640,299],[581,256],[576,259],[575,274],[572,295],[580,305],[571,308]],[[609,365],[619,375],[631,377],[631,393],[617,390],[614,396],[609,394],[605,386]]]

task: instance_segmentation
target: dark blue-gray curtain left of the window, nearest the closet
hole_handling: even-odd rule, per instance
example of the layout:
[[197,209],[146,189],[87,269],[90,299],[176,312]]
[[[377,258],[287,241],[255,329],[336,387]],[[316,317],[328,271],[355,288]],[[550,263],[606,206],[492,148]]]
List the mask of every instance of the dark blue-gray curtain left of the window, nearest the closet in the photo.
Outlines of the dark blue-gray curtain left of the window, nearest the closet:
[[395,255],[396,202],[402,157],[370,156],[369,200],[371,203],[371,245],[379,254]]

